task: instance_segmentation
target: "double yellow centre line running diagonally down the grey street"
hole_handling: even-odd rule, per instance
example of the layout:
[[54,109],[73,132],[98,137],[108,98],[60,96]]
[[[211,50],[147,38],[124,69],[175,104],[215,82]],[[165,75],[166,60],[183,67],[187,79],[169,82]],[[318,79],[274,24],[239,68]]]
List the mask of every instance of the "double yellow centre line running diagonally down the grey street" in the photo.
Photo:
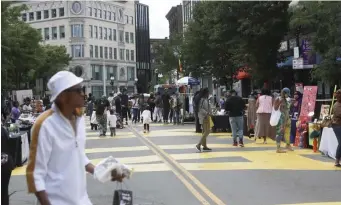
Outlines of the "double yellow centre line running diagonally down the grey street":
[[[199,180],[197,180],[193,175],[191,175],[187,170],[183,169],[180,164],[178,164],[174,159],[171,158],[166,152],[164,152],[162,149],[160,149],[157,145],[155,145],[153,142],[151,142],[148,138],[144,137],[143,135],[139,134],[138,131],[130,127],[133,131],[136,132],[137,136],[139,136],[141,141],[145,143],[156,155],[158,155],[162,161],[169,166],[169,168],[172,170],[172,172],[179,178],[179,180],[187,187],[187,189],[202,203],[202,204],[210,204],[194,187],[191,185],[188,180],[186,180],[182,174],[186,175],[188,178],[192,180],[194,184],[198,186],[199,189],[201,189],[202,192],[204,192],[211,200],[213,200],[218,205],[225,205],[223,201],[221,201],[217,196],[215,196],[208,188],[206,188]],[[177,167],[182,174],[180,174],[179,171],[177,171],[172,164],[169,162],[171,161],[173,166]]]

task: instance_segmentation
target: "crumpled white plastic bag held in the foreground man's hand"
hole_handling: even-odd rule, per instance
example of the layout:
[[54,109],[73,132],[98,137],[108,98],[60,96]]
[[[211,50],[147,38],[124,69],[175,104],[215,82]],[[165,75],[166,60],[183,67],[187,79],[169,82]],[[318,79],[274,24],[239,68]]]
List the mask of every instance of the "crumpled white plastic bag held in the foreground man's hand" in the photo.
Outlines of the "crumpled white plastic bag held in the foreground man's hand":
[[130,168],[128,165],[121,164],[114,157],[109,156],[96,165],[94,178],[102,183],[111,181],[111,172],[113,170],[116,170],[116,173],[119,175],[123,174],[128,179],[131,177],[131,174],[133,172],[133,169]]

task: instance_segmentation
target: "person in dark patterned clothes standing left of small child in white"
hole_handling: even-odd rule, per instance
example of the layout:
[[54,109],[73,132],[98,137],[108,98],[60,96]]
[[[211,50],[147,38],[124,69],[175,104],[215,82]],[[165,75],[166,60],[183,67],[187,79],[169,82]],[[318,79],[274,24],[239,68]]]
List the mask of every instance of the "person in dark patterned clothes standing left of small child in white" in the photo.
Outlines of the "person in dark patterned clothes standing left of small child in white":
[[96,103],[96,119],[98,122],[99,136],[105,136],[107,132],[107,110],[110,109],[110,103],[105,97],[97,100]]

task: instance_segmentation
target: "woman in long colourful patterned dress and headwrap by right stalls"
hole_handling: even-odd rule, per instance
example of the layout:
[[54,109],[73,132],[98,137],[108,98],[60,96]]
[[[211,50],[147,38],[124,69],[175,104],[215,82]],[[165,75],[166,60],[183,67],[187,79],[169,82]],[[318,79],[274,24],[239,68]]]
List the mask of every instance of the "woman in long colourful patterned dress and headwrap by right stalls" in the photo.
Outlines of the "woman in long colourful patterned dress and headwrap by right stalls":
[[289,116],[290,102],[288,98],[290,97],[289,88],[283,88],[281,91],[280,97],[278,97],[274,102],[274,109],[281,111],[281,117],[279,118],[279,122],[276,126],[276,144],[277,144],[277,153],[285,153],[286,151],[281,149],[282,140],[286,143],[286,149],[289,151],[293,151],[290,145],[290,125],[291,119]]

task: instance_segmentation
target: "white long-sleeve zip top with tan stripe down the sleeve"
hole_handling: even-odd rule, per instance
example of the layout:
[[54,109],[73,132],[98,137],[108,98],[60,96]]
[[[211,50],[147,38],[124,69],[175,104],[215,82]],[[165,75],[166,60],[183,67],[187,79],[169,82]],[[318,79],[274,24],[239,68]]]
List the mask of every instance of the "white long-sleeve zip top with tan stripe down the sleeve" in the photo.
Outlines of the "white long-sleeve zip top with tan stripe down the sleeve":
[[53,105],[31,130],[26,170],[28,191],[45,190],[52,205],[91,205],[86,190],[85,121],[77,117],[76,133]]

